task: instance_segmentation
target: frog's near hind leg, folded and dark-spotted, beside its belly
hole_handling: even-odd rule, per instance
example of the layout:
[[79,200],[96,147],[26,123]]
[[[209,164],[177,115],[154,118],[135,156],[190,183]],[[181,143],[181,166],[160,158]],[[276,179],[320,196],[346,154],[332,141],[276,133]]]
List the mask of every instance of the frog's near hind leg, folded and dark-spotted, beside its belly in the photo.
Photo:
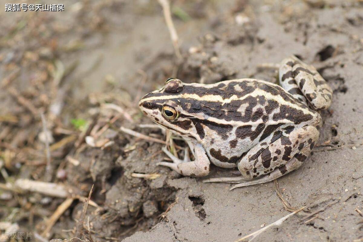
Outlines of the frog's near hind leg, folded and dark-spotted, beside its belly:
[[238,163],[238,169],[242,177],[256,180],[242,182],[236,187],[269,182],[297,169],[310,154],[318,138],[318,130],[306,126],[292,131],[289,136],[282,136],[257,153],[253,153],[256,149],[250,150]]

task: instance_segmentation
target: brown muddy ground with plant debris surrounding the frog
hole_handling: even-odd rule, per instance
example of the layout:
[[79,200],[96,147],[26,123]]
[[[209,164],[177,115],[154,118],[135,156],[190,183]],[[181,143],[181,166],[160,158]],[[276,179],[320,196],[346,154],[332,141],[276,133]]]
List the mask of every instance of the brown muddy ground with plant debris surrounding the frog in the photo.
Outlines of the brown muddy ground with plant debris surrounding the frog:
[[[363,241],[362,1],[172,1],[181,61],[157,1],[63,4],[57,13],[0,12],[1,222],[39,241],[232,242],[286,216],[273,182],[229,191],[182,177],[155,165],[163,144],[120,127],[165,140],[140,127],[151,122],[137,102],[168,77],[276,82],[275,70],[258,66],[295,54],[328,81],[333,104],[310,159],[277,180],[286,204],[305,212],[255,241]],[[68,193],[29,191],[20,179]]]

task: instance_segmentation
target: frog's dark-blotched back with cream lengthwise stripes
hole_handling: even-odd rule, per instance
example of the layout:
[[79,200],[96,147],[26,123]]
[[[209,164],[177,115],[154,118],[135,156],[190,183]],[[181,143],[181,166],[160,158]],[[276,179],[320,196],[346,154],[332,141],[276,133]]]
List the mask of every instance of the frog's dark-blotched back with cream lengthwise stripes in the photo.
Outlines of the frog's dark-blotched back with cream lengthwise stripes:
[[304,126],[320,122],[317,112],[282,87],[256,79],[236,79],[210,85],[191,83],[184,87],[183,93],[195,94],[196,97],[194,101],[189,99],[193,103],[185,105],[184,110],[202,112],[205,118],[219,120],[219,123]]

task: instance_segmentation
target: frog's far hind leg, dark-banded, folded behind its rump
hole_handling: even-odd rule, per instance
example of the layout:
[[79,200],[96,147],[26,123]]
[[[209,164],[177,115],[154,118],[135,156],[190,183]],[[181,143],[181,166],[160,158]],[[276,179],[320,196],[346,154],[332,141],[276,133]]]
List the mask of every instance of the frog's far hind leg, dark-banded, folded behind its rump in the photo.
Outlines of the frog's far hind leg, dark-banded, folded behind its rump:
[[291,56],[281,62],[279,80],[288,93],[306,105],[310,103],[315,110],[329,108],[333,91],[314,66]]

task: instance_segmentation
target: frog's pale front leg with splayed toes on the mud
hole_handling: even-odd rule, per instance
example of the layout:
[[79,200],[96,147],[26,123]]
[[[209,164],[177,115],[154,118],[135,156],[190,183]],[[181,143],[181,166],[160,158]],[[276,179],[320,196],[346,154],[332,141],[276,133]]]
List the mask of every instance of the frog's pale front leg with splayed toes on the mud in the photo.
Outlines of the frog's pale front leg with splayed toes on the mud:
[[166,148],[163,148],[163,151],[167,156],[170,157],[173,163],[159,162],[156,165],[170,167],[174,171],[184,176],[207,176],[209,173],[210,161],[203,146],[196,144],[193,145],[191,149],[195,157],[194,161],[190,161],[187,149],[184,154],[184,160],[180,160],[178,157],[175,157],[172,153],[170,153]]

